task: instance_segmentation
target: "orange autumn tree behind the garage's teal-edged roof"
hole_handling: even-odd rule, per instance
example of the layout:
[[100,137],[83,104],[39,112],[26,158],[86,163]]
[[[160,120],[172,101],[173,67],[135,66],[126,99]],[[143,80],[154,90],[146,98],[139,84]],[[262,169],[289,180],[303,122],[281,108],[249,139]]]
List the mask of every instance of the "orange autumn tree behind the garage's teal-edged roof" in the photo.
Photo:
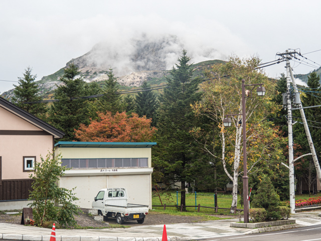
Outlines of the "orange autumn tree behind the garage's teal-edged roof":
[[90,121],[88,127],[81,124],[75,130],[75,137],[81,142],[148,142],[157,130],[150,126],[151,119],[136,113],[128,116],[126,112],[100,112],[97,120]]

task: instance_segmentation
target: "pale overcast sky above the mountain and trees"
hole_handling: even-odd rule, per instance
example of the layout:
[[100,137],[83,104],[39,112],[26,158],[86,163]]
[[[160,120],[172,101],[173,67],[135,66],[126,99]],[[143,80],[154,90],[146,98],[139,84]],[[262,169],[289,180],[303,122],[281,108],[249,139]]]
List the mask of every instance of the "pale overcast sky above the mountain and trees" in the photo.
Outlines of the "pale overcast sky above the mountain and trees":
[[[112,46],[141,33],[177,35],[193,62],[203,61],[197,53],[208,49],[215,49],[216,58],[223,60],[233,54],[258,55],[263,62],[289,48],[299,48],[302,54],[320,50],[320,10],[321,1],[302,0],[4,0],[0,2],[0,92],[12,89],[17,82],[7,81],[17,81],[28,66],[39,80],[99,42]],[[294,73],[320,66],[321,51],[305,57],[315,67],[292,61]],[[284,66],[273,65],[265,72],[277,77]]]

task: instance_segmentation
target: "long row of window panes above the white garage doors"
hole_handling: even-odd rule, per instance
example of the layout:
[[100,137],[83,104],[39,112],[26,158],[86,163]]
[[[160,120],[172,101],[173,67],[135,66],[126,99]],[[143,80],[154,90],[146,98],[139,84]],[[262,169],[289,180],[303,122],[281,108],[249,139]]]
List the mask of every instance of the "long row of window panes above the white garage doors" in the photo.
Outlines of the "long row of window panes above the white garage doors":
[[148,167],[148,158],[61,159],[61,165],[73,169]]

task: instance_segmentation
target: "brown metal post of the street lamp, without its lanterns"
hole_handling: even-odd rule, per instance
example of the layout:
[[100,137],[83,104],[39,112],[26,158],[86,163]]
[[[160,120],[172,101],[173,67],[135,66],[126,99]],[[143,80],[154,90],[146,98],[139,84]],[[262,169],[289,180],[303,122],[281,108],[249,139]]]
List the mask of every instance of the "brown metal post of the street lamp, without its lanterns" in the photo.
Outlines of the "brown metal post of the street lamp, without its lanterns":
[[244,223],[249,222],[249,183],[246,163],[246,116],[245,116],[245,80],[242,79],[242,124],[243,124],[243,195],[244,195]]

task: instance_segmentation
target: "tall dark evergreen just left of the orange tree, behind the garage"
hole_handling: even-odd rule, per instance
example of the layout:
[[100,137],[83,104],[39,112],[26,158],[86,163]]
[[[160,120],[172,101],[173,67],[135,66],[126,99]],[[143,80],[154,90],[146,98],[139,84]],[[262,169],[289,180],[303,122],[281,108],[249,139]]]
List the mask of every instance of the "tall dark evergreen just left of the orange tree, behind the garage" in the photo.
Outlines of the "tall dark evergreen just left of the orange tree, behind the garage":
[[71,63],[64,70],[64,75],[60,78],[63,82],[55,90],[55,99],[50,109],[49,122],[66,135],[60,141],[73,141],[74,130],[79,125],[89,124],[88,102],[85,99],[71,99],[74,97],[86,96],[86,82],[82,78],[76,78],[80,73],[78,67]]

